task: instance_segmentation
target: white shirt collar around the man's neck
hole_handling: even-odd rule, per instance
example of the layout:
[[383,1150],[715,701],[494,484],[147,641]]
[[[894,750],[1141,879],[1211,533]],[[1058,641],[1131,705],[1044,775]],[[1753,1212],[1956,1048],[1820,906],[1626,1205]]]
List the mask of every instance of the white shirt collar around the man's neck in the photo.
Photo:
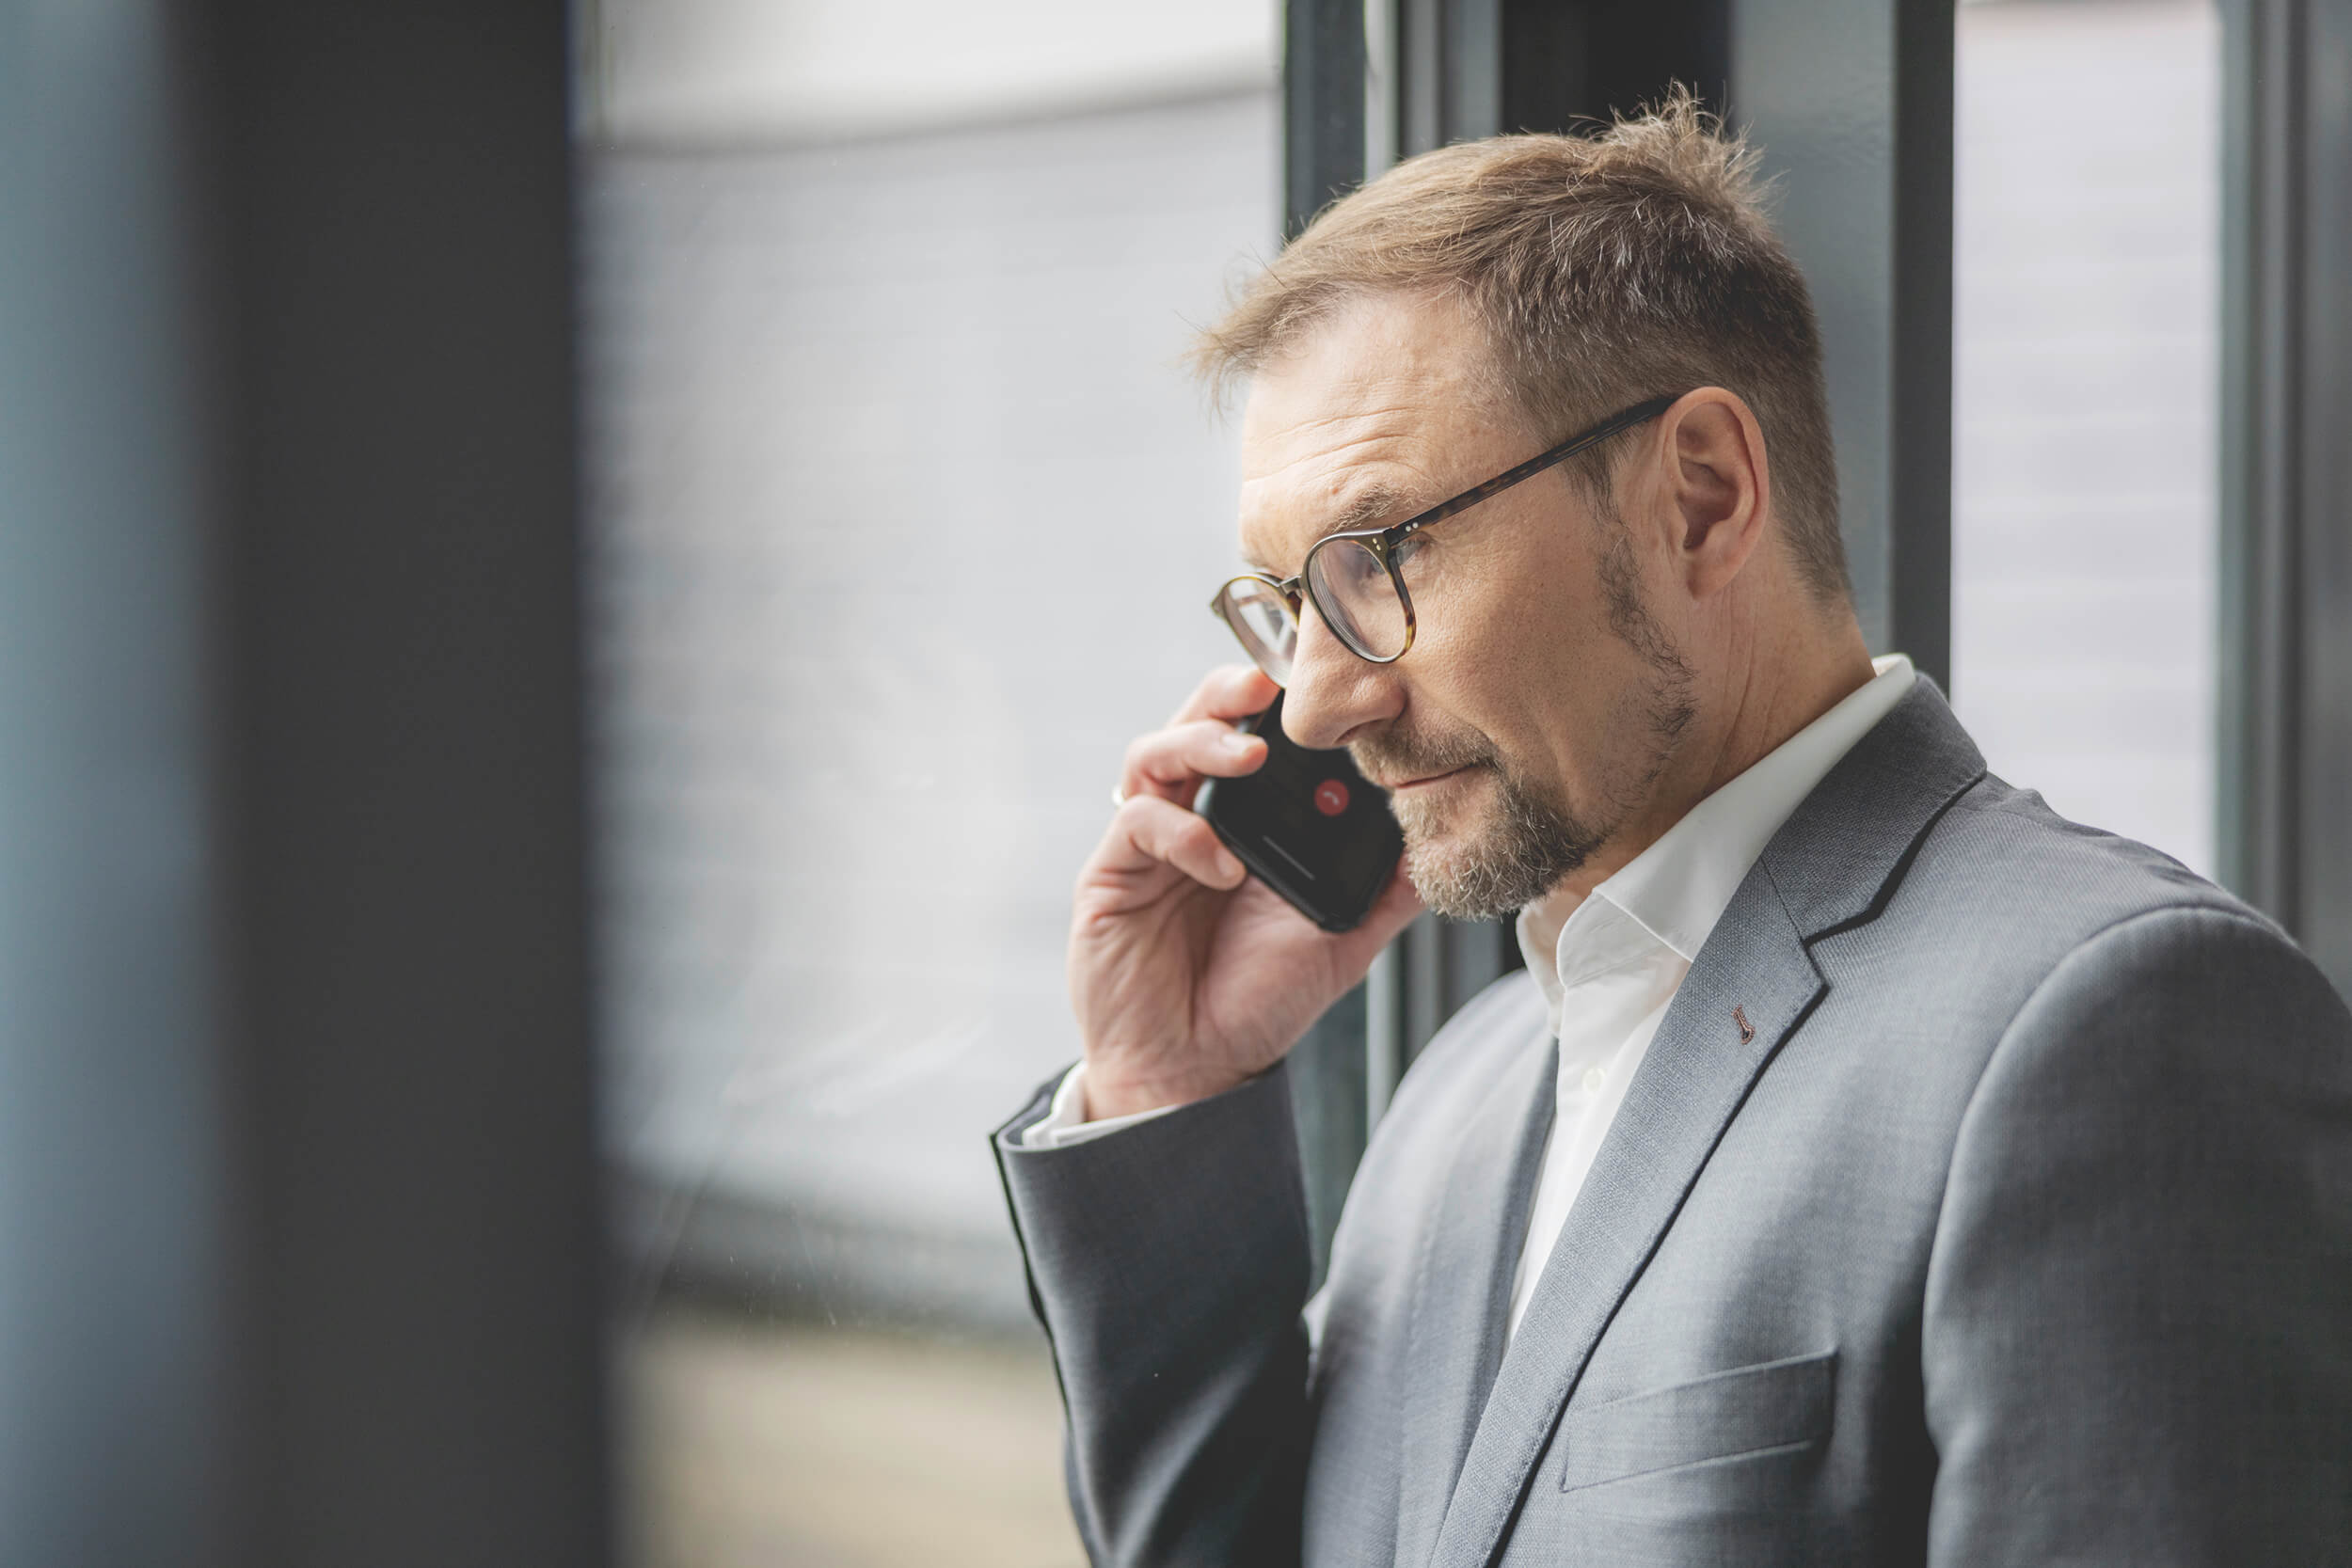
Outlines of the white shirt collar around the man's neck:
[[[1698,959],[1771,835],[1910,691],[1912,663],[1903,654],[1872,661],[1872,679],[1691,806],[1656,844],[1592,889],[1583,905],[1573,903],[1573,893],[1552,893],[1519,910],[1519,954],[1543,987],[1555,1034],[1571,976],[1597,973],[1595,961],[1604,969],[1625,961],[1618,952],[1623,936],[1602,936],[1623,924],[1616,914],[1630,917],[1684,964]],[[1602,900],[1606,910],[1592,907]]]

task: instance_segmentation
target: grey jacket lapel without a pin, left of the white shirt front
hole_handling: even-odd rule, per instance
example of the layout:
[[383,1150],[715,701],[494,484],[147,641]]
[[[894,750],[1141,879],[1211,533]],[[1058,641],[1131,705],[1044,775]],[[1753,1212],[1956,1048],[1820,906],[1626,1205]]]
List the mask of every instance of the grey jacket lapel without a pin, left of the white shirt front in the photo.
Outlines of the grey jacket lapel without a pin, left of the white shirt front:
[[1519,1244],[1552,1131],[1559,1041],[1538,1030],[1496,1074],[1446,1173],[1414,1279],[1397,1561],[1425,1563],[1503,1359]]

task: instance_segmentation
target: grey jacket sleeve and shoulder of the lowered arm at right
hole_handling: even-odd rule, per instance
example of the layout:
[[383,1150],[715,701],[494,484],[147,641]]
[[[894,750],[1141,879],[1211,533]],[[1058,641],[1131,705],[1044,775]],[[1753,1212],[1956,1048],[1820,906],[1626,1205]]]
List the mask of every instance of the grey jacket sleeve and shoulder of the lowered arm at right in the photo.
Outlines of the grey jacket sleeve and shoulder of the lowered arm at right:
[[2352,1563],[2352,1016],[2154,910],[2042,983],[1962,1119],[1922,1324],[1929,1561]]

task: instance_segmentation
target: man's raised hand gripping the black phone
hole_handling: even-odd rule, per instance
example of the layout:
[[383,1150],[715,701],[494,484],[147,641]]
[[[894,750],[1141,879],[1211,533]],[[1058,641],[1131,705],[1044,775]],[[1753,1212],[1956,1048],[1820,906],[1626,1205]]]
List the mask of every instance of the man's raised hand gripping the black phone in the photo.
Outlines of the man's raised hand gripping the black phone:
[[1214,670],[1167,729],[1127,748],[1127,802],[1077,875],[1070,917],[1094,1119],[1204,1100],[1265,1072],[1421,910],[1399,865],[1364,924],[1334,936],[1192,816],[1202,778],[1265,764],[1265,741],[1232,719],[1275,691],[1249,665]]

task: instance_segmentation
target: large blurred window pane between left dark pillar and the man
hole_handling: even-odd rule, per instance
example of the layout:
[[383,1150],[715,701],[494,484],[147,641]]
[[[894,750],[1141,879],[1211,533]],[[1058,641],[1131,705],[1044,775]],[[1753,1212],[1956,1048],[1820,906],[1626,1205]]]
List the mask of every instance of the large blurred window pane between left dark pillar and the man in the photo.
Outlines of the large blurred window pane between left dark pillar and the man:
[[1277,242],[1275,21],[581,14],[633,1568],[1082,1561],[985,1138],[1077,1053],[1129,738],[1237,654],[1176,360]]

